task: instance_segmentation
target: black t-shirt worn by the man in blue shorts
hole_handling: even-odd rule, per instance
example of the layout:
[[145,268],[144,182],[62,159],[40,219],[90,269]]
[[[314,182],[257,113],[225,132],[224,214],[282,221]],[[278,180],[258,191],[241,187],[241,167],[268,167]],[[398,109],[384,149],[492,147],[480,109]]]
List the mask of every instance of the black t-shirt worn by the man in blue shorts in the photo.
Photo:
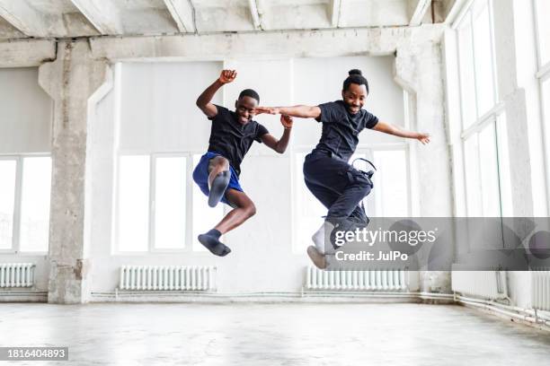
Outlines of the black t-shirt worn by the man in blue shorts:
[[241,161],[252,146],[254,140],[262,143],[260,137],[269,131],[256,121],[241,125],[236,113],[225,107],[216,106],[217,115],[208,118],[212,121],[208,152],[219,153],[225,157],[237,175],[241,174]]

